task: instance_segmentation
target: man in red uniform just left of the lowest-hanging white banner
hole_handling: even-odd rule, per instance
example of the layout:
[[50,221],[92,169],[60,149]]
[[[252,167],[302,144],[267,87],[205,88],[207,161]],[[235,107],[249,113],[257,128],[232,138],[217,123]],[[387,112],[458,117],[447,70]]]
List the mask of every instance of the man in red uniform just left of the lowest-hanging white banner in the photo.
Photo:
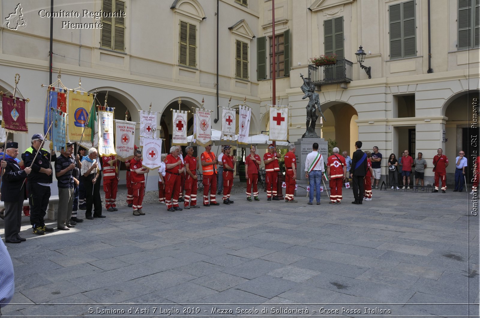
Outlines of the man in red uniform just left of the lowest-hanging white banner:
[[135,150],[135,156],[130,160],[130,180],[132,181],[132,207],[134,216],[144,216],[142,202],[145,193],[145,173],[150,170],[142,167],[142,151]]

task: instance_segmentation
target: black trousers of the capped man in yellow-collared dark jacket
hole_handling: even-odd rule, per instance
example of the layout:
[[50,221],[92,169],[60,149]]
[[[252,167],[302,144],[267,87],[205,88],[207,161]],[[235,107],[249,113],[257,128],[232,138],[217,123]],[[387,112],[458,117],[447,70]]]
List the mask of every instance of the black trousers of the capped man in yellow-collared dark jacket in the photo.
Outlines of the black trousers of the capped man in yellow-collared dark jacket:
[[50,187],[36,182],[27,182],[28,202],[30,203],[30,224],[33,228],[45,226]]

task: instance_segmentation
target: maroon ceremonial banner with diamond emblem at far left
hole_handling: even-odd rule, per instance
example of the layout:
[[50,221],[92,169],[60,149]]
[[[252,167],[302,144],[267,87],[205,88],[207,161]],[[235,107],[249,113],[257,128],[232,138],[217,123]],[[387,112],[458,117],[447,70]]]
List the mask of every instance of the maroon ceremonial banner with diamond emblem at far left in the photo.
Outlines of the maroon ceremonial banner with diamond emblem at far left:
[[[15,99],[15,101],[13,100]],[[9,133],[27,134],[26,101],[18,97],[2,95],[1,126]]]

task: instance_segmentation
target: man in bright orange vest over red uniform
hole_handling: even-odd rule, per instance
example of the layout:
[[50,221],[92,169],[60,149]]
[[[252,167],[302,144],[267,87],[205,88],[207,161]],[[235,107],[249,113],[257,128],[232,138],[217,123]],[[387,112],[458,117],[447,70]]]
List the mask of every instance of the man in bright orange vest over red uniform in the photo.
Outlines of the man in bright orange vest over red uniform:
[[[200,156],[200,161],[202,163],[202,172],[204,179],[202,183],[204,184],[204,206],[210,205],[220,205],[216,202],[216,165],[218,160],[215,157],[215,154],[211,152],[212,145],[205,147],[205,151]],[[225,170],[225,167],[224,167]],[[210,203],[208,203],[208,190],[210,189]]]

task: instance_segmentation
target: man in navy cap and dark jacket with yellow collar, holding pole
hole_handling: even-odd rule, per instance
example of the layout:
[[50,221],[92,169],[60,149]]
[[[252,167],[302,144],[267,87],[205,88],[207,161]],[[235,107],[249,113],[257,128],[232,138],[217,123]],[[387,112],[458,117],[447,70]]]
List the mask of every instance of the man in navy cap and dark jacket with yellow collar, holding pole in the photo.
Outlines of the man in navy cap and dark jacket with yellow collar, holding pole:
[[[30,224],[33,227],[33,234],[36,235],[53,232],[53,228],[45,226],[43,218],[47,214],[48,200],[51,194],[50,184],[53,181],[50,161],[56,161],[57,155],[53,149],[48,152],[41,148],[43,139],[42,134],[33,135],[32,147],[26,149],[22,154],[25,167],[32,168],[32,172],[27,178],[27,190],[30,201]],[[50,145],[52,144],[50,143]]]

